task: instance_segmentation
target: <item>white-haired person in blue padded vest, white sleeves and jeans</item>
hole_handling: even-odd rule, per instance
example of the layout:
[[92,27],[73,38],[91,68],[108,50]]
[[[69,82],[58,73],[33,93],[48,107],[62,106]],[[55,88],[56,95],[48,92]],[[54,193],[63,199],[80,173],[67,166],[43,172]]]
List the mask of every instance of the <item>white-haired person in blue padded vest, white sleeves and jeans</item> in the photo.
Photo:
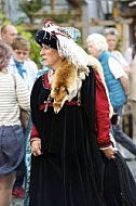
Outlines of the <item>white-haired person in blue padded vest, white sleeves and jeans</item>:
[[122,108],[128,98],[128,78],[120,62],[108,52],[106,38],[100,34],[92,34],[86,39],[87,51],[97,57],[103,66],[109,98],[114,113],[120,115],[120,124],[113,126],[114,139],[136,155],[136,144],[122,130]]

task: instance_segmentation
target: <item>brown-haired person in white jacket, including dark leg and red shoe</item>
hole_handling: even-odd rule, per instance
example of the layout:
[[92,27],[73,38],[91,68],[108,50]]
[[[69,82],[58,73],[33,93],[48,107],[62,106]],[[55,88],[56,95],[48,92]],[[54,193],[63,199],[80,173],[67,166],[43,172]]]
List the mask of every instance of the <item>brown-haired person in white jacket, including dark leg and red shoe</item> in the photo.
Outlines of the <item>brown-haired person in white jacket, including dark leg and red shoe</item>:
[[[30,94],[38,72],[37,64],[28,57],[30,43],[26,38],[18,36],[13,40],[11,46],[13,49],[13,56],[10,60],[9,73],[19,74]],[[26,168],[23,160],[17,170],[16,181],[12,192],[16,197],[24,197],[25,195],[25,190],[23,188],[25,171]]]

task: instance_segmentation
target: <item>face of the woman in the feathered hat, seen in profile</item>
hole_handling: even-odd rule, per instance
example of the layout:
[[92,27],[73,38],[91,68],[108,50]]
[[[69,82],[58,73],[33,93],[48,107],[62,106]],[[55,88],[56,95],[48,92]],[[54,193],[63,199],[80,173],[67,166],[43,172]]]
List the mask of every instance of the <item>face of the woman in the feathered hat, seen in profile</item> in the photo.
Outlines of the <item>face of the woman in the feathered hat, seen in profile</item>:
[[40,54],[42,56],[44,66],[49,66],[53,69],[56,69],[62,62],[62,57],[59,56],[57,50],[45,44],[42,44]]

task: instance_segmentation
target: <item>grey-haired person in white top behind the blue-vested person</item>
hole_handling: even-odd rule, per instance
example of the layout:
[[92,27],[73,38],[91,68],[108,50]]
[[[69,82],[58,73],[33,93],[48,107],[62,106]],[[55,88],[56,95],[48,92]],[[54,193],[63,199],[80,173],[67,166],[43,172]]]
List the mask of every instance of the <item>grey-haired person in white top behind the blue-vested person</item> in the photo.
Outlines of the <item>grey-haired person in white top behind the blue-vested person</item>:
[[119,39],[118,30],[114,27],[107,27],[104,30],[104,35],[105,35],[107,43],[108,43],[108,51],[115,55],[118,61],[123,66],[125,73],[130,76],[131,67],[130,67],[128,63],[125,61],[122,53],[120,51],[115,50],[118,39]]

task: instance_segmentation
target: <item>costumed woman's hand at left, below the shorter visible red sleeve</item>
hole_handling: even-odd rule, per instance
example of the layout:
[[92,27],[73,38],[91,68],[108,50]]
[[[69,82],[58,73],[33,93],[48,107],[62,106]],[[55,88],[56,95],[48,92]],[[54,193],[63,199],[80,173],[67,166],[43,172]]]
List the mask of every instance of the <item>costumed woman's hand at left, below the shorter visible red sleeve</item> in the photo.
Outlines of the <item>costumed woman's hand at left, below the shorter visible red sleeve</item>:
[[41,155],[41,140],[40,139],[35,139],[30,143],[31,151],[35,156]]

